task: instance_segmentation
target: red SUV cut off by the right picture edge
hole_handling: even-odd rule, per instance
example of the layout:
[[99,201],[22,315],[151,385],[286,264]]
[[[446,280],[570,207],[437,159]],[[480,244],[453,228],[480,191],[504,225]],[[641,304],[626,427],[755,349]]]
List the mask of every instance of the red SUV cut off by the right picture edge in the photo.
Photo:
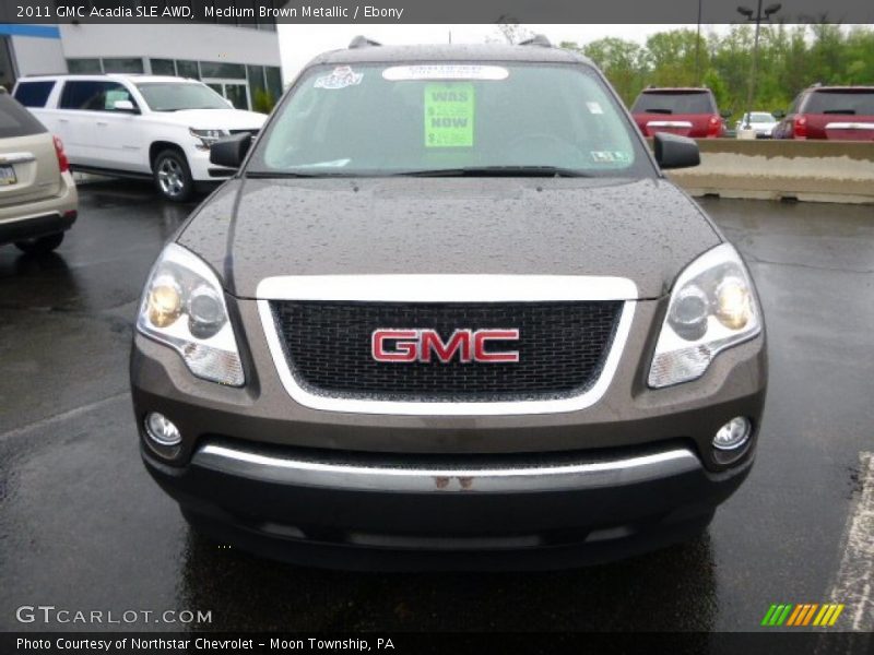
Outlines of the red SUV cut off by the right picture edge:
[[874,86],[822,86],[805,88],[780,119],[775,139],[829,139],[874,141]]

